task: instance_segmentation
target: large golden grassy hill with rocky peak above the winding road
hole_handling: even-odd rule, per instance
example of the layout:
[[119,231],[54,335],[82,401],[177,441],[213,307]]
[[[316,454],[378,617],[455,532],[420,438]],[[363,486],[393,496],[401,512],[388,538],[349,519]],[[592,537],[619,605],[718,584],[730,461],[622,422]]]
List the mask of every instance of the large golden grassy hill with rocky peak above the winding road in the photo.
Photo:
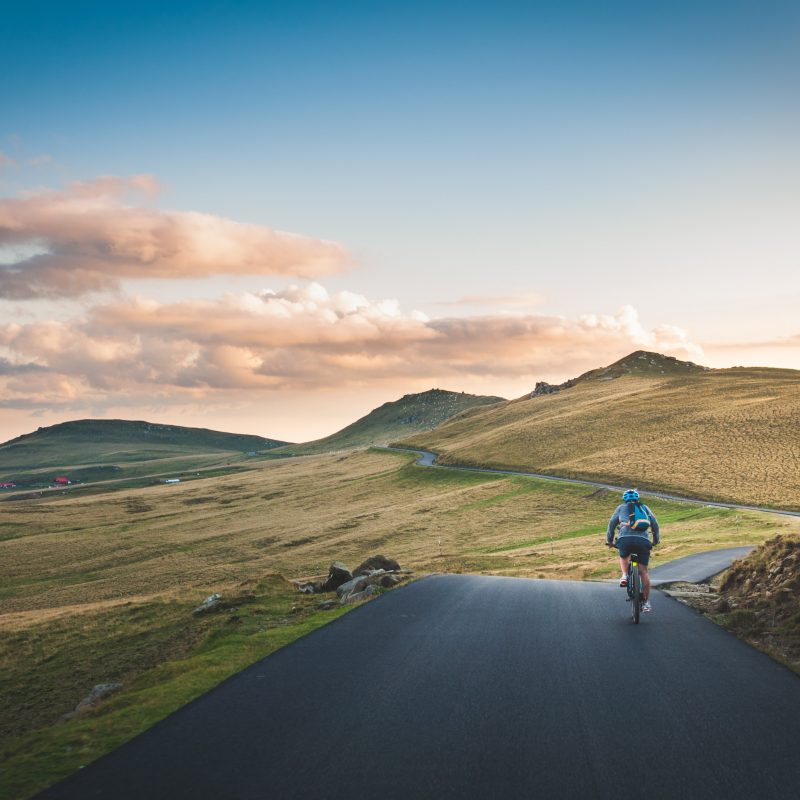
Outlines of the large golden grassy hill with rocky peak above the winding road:
[[445,464],[800,509],[800,371],[708,370],[635,353],[568,384],[403,443]]

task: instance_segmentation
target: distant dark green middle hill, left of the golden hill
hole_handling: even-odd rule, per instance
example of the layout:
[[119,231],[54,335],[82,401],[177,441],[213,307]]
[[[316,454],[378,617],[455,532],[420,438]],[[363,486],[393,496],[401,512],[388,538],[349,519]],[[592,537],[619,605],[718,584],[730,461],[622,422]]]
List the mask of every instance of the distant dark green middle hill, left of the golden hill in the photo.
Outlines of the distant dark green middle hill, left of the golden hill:
[[435,428],[469,409],[501,402],[502,397],[448,392],[444,389],[407,394],[399,400],[384,403],[338,433],[305,444],[288,445],[277,452],[295,455],[331,453],[355,447],[388,444],[396,439]]

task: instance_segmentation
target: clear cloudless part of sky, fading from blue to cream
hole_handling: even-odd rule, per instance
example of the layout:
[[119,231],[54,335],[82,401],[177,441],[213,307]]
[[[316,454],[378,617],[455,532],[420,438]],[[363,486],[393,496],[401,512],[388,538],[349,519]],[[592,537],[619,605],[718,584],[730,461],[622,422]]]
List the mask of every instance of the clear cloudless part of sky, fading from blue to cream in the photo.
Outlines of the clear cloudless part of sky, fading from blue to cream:
[[798,366],[796,3],[34,1],[3,20],[0,197],[152,174],[157,207],[341,243],[357,267],[331,292],[431,318],[631,304],[709,363]]

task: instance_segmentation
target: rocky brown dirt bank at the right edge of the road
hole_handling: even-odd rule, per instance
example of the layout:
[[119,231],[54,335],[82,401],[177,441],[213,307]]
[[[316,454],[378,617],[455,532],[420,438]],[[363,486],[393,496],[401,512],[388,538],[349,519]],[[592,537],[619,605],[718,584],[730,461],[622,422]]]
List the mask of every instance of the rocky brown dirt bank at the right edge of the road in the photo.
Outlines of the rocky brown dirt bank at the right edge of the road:
[[710,585],[670,594],[800,673],[800,536],[768,539]]

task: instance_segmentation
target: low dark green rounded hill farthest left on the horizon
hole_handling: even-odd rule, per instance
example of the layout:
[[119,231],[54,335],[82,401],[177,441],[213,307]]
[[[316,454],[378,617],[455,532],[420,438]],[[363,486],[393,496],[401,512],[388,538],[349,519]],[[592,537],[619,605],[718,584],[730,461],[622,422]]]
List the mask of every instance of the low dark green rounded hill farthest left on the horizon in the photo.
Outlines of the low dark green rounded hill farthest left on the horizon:
[[46,486],[55,474],[81,482],[181,473],[285,445],[274,439],[206,428],[129,420],[64,422],[0,445],[0,480]]

